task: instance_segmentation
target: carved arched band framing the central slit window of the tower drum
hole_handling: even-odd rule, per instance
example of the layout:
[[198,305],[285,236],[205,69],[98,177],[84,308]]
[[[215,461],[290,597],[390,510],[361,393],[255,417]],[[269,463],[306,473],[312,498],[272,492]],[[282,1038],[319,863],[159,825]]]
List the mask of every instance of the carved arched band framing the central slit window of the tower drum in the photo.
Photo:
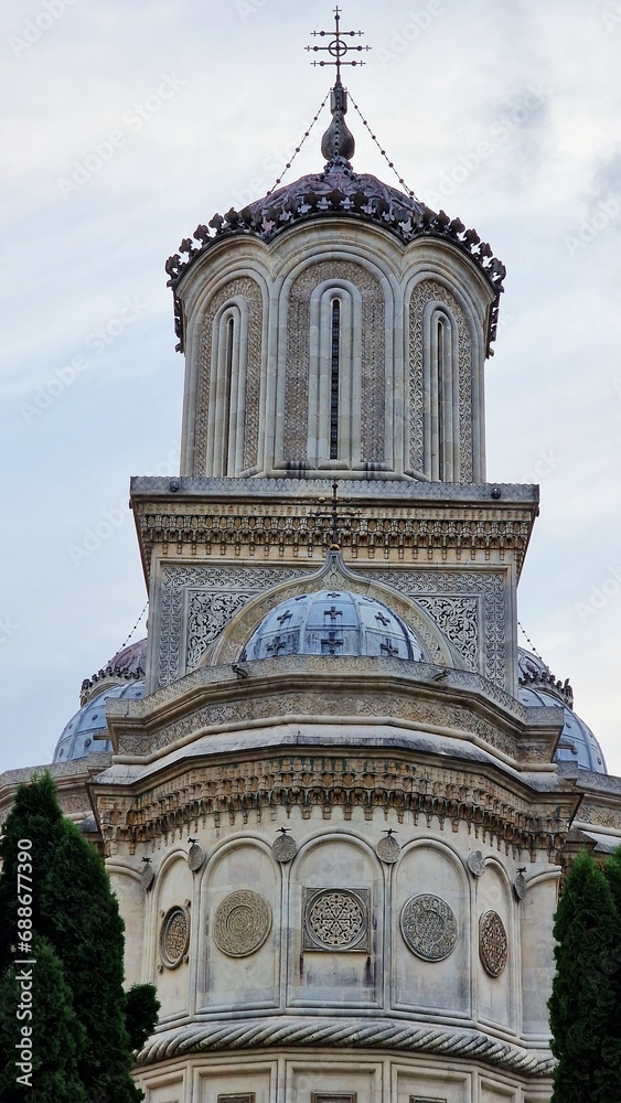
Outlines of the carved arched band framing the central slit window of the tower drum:
[[[288,310],[285,459],[306,463],[309,431],[310,302],[324,280],[353,283],[362,296],[361,462],[384,462],[385,302],[377,279],[362,265],[324,260],[291,286]],[[357,411],[353,411],[356,414]]]

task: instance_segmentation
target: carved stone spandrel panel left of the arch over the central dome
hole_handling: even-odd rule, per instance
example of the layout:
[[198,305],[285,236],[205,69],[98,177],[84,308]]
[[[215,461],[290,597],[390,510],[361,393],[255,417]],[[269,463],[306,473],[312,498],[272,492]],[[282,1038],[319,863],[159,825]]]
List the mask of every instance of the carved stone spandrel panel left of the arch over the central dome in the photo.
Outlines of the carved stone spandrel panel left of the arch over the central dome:
[[176,682],[200,661],[256,593],[303,574],[277,567],[164,566],[158,685]]

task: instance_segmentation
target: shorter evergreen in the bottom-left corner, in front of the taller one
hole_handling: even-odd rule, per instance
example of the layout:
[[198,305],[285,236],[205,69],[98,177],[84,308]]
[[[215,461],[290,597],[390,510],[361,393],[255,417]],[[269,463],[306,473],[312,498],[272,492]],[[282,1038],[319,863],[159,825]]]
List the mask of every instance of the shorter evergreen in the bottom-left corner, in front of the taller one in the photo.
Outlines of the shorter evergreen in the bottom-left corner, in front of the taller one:
[[[77,1072],[85,1031],[63,966],[46,939],[31,945],[28,964],[9,965],[0,981],[0,1099],[87,1103]],[[20,977],[29,973],[32,988],[24,990]]]

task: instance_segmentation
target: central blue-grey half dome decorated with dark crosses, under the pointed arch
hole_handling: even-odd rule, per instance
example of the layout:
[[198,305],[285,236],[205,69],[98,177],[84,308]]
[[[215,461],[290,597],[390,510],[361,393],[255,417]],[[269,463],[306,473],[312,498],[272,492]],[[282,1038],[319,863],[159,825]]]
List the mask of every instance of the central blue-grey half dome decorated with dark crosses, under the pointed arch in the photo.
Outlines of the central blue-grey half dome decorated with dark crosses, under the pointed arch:
[[425,657],[400,617],[382,601],[350,590],[318,590],[282,601],[255,630],[240,657],[283,655]]

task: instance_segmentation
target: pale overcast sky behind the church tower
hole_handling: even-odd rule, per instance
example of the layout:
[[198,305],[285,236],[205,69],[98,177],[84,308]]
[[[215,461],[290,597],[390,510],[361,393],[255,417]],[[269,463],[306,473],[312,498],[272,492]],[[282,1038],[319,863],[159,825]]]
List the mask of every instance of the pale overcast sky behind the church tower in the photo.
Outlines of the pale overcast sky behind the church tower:
[[[51,761],[144,604],[129,478],[174,473],[181,428],[163,264],[280,174],[330,84],[304,46],[332,7],[2,7],[0,770]],[[342,7],[373,47],[346,83],[399,173],[507,267],[488,476],[540,484],[520,618],[621,774],[621,0]],[[355,167],[395,182],[349,121]],[[322,167],[322,129],[289,179]]]

